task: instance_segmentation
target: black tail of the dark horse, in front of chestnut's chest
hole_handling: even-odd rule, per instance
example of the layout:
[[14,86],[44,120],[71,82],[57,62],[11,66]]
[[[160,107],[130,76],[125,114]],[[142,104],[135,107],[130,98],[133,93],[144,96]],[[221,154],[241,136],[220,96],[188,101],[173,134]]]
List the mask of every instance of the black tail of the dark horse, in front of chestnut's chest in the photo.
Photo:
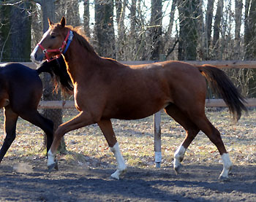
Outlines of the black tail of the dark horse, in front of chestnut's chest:
[[62,56],[60,58],[57,58],[54,61],[50,61],[49,63],[47,61],[42,63],[37,68],[37,74],[41,74],[42,72],[50,73],[50,76],[53,79],[55,88],[58,88],[60,84],[61,90],[64,93],[68,93],[68,94],[73,93],[74,87],[69,77],[69,74],[67,73],[66,63]]

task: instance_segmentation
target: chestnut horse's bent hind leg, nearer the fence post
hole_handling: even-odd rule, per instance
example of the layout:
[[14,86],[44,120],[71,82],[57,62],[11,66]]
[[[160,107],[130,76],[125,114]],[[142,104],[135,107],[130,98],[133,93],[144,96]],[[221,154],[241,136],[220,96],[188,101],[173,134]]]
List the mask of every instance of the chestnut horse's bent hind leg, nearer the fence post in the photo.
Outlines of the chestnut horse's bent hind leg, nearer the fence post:
[[181,168],[181,161],[184,158],[184,154],[187,150],[187,147],[189,147],[189,144],[191,144],[191,142],[195,139],[195,136],[197,136],[197,133],[200,130],[197,128],[197,125],[195,125],[195,123],[192,123],[187,114],[181,112],[181,109],[179,109],[176,105],[168,105],[165,108],[165,112],[169,114],[170,117],[173,117],[173,119],[176,120],[177,123],[183,126],[183,128],[187,132],[184,141],[181,143],[181,145],[174,153],[173,168],[176,171],[176,174],[178,174]]

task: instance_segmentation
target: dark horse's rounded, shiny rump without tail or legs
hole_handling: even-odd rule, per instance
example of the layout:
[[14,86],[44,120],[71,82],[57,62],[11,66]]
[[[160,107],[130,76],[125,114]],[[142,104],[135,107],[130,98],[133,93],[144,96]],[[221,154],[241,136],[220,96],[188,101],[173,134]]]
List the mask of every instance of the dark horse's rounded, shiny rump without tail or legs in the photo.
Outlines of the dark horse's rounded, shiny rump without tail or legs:
[[[1,92],[7,92],[13,110],[37,109],[42,96],[42,81],[37,71],[20,63],[0,66]],[[22,106],[22,107],[21,107]]]

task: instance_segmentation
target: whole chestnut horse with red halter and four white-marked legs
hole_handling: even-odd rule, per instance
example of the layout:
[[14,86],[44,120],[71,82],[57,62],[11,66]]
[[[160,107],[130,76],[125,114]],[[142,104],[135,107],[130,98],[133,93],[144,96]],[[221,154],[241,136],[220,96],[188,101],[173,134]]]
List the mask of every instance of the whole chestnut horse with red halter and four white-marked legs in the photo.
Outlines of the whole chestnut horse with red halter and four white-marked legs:
[[[178,173],[184,153],[199,131],[216,145],[223,160],[220,178],[227,179],[232,163],[217,128],[205,114],[206,79],[224,98],[233,117],[238,120],[246,110],[244,98],[223,71],[214,66],[192,66],[179,61],[165,61],[139,66],[126,66],[102,58],[77,28],[51,23],[31,53],[35,63],[63,54],[74,85],[78,116],[59,126],[48,152],[48,168],[56,166],[56,151],[65,133],[97,123],[110,150],[116,157],[117,170],[111,176],[119,179],[127,171],[110,119],[135,120],[165,109],[187,131],[187,136],[174,155]],[[67,44],[67,45],[66,45]],[[65,48],[65,53],[63,52]],[[57,56],[56,56],[57,55]]]

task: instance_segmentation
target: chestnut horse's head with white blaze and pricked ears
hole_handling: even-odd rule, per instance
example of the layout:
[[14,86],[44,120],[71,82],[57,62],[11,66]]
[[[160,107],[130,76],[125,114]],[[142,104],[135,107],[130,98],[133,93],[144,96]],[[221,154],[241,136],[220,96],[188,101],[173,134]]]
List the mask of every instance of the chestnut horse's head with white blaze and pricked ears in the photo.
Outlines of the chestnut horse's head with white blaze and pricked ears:
[[54,24],[49,19],[48,23],[48,31],[45,32],[41,41],[31,53],[31,61],[34,63],[41,63],[45,59],[50,61],[51,58],[59,58],[64,48],[67,48],[67,41],[72,36],[69,29],[65,28],[66,19],[64,17],[60,23]]

